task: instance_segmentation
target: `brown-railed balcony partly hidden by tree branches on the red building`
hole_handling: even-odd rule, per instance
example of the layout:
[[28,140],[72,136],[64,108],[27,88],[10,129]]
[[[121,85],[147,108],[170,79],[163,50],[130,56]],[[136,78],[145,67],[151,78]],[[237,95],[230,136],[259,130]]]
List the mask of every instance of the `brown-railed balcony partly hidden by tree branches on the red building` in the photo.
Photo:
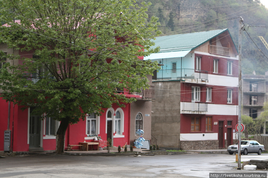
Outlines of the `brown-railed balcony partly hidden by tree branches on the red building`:
[[[127,89],[121,89],[116,87],[116,92],[124,95],[131,95],[130,97],[134,97],[137,99],[155,101],[155,86],[149,86],[148,89],[141,89],[140,93],[130,93]],[[138,97],[135,97],[138,96]]]

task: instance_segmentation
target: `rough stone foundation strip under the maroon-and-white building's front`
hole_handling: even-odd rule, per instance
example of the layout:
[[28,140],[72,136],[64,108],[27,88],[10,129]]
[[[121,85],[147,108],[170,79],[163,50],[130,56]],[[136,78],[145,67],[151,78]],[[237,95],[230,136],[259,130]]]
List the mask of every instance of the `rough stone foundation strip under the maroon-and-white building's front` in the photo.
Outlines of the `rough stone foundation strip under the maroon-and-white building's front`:
[[219,140],[180,141],[181,150],[219,149]]

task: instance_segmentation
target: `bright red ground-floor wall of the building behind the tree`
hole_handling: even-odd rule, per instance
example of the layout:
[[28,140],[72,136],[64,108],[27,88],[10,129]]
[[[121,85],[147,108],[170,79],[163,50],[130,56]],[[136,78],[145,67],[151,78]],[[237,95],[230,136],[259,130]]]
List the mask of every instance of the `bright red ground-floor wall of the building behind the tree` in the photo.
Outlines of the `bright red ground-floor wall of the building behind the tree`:
[[[126,143],[129,144],[129,105],[126,104],[126,107],[121,108],[124,112],[124,138],[114,138],[113,139],[113,146],[118,145],[125,145]],[[8,110],[8,103],[5,100],[0,100],[0,151],[4,150],[4,131],[7,130],[7,118],[8,112],[10,112],[10,130],[12,131],[11,134],[11,145],[12,151],[29,151],[29,144],[27,144],[27,137],[28,137],[28,109],[22,111],[17,105],[10,103],[10,110]],[[113,105],[114,111],[118,106],[116,104]],[[102,137],[103,140],[107,140],[107,134],[105,133],[106,128],[106,111],[103,115],[100,116],[100,128],[99,128],[99,136]],[[41,121],[43,122],[43,121]],[[41,126],[42,127],[42,126]],[[43,130],[43,129],[41,129]],[[43,133],[41,133],[43,135]],[[115,135],[115,133],[113,133]],[[44,137],[45,135],[43,135]],[[67,147],[68,144],[79,144],[79,142],[91,142],[93,140],[85,140],[86,135],[86,120],[80,120],[79,123],[69,125],[66,131],[66,140],[65,146]],[[55,150],[56,148],[56,140],[55,139],[41,139],[43,142],[43,149],[44,150]],[[79,149],[73,148],[73,149]],[[97,149],[97,148],[95,148]]]

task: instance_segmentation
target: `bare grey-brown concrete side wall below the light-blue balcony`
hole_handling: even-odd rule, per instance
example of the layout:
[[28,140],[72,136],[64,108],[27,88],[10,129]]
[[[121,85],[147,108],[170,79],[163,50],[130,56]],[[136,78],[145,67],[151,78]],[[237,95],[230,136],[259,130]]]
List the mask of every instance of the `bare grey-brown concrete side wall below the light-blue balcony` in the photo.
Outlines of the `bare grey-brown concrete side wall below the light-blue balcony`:
[[159,147],[180,147],[180,81],[153,81],[152,136]]

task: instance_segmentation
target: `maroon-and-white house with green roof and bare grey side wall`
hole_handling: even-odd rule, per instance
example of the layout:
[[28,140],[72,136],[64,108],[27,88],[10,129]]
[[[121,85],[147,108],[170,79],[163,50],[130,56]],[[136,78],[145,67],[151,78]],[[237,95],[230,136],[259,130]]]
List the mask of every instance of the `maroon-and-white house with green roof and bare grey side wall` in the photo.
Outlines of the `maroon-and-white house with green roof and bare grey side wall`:
[[152,136],[161,147],[227,148],[238,122],[238,51],[228,29],[160,36],[150,55],[156,102]]

